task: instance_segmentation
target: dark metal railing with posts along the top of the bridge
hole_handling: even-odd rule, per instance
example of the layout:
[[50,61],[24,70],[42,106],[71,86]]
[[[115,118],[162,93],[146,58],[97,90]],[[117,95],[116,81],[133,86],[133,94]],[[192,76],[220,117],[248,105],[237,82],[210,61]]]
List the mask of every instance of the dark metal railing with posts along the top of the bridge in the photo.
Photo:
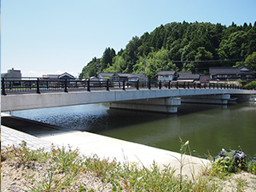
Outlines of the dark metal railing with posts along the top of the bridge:
[[39,79],[39,78],[2,78],[2,95],[11,93],[29,93],[72,90],[140,90],[140,89],[243,89],[236,84],[213,84],[208,82],[158,81],[148,80],[75,80],[75,79]]

